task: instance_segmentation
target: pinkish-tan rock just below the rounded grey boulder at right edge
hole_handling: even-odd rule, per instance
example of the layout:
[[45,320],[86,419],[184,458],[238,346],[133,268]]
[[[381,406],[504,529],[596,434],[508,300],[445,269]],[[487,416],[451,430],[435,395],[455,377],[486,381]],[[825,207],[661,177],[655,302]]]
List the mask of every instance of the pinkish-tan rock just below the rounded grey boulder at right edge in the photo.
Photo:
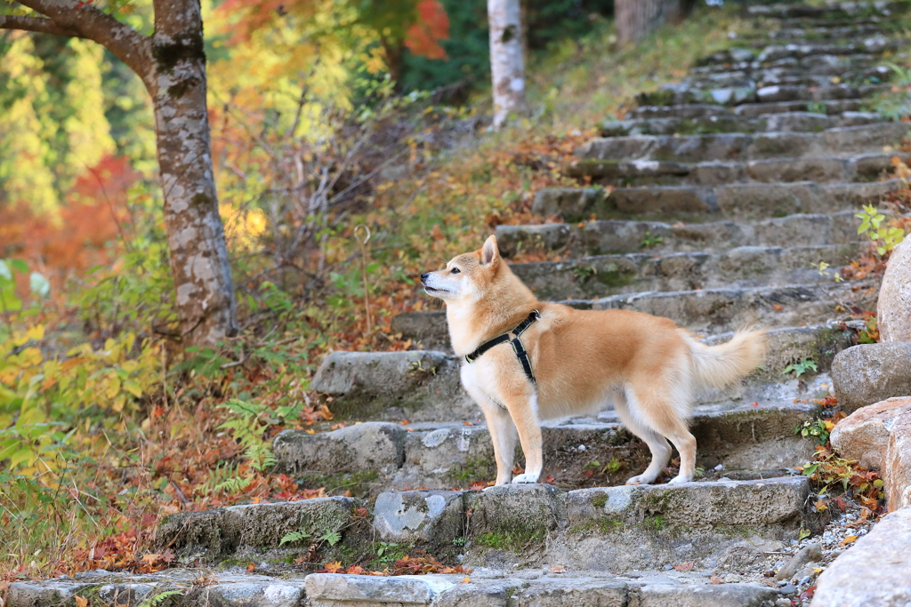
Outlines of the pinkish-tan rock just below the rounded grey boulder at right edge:
[[832,446],[842,457],[871,470],[885,470],[886,450],[896,420],[911,414],[911,397],[883,400],[855,410],[832,430]]

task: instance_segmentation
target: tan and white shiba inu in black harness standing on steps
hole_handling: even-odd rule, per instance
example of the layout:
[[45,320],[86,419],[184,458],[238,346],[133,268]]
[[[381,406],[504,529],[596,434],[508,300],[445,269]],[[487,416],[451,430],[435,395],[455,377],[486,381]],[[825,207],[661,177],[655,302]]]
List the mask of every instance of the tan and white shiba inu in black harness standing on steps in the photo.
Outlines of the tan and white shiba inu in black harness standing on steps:
[[[462,384],[484,410],[496,456],[496,484],[537,482],[541,420],[593,415],[613,400],[620,420],[644,440],[651,463],[627,484],[654,482],[670,459],[691,481],[696,440],[688,429],[693,393],[742,379],[763,362],[764,331],[738,331],[719,346],[673,321],[630,310],[578,310],[538,301],[500,258],[496,237],[421,275],[446,306]],[[512,346],[511,348],[509,346]],[[515,478],[516,439],[525,473]]]

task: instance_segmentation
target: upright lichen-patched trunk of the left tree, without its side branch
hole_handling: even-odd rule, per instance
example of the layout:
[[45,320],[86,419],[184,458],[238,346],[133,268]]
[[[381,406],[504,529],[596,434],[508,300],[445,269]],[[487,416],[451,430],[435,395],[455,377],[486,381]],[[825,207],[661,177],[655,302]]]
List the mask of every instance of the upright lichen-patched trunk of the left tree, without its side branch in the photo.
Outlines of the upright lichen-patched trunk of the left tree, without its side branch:
[[237,334],[237,309],[212,175],[200,5],[196,0],[154,4],[155,77],[146,84],[155,108],[180,333],[189,343],[212,346]]

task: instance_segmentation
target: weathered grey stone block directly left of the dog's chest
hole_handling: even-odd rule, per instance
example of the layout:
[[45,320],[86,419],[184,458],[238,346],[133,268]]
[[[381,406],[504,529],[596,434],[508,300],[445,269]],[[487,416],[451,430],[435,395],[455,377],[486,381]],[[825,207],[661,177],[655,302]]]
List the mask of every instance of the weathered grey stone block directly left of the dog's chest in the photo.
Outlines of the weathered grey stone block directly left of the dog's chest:
[[475,417],[457,371],[455,359],[434,350],[335,351],[322,360],[312,388],[333,397],[338,420],[437,420],[445,411]]

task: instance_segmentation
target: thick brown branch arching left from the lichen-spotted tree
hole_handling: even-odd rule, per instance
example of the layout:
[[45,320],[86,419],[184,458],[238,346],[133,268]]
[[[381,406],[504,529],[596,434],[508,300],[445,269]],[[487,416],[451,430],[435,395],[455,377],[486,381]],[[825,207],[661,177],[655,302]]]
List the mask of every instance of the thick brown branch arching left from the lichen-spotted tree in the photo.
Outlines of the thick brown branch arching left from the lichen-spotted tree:
[[[92,5],[80,5],[77,0],[16,0],[18,4],[46,15],[56,25],[49,34],[87,38],[104,46],[142,78],[148,86],[155,72],[151,42],[129,25]],[[6,16],[8,20],[10,17]],[[17,17],[38,21],[36,17]],[[44,21],[41,19],[41,21]],[[46,25],[46,24],[40,24]],[[23,28],[24,29],[24,28]],[[37,30],[33,30],[37,31]]]

